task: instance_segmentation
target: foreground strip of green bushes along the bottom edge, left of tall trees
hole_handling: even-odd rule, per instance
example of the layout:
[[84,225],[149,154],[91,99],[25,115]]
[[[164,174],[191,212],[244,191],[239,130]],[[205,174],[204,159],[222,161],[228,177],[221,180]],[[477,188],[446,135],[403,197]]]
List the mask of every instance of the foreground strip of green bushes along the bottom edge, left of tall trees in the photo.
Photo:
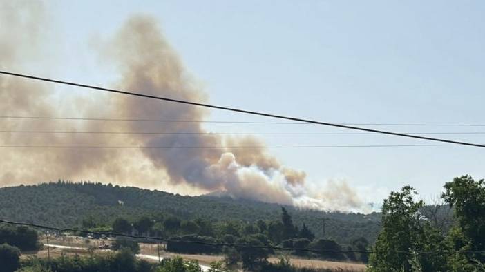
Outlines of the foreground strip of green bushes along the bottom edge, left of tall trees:
[[[291,219],[291,218],[290,218]],[[6,227],[9,242],[24,249],[31,249],[32,245],[38,246],[38,236],[34,229],[20,227],[17,229]],[[36,235],[21,236],[19,233],[35,233]],[[14,239],[15,238],[15,239]],[[20,240],[30,242],[23,244]],[[19,239],[19,240],[16,240]],[[263,235],[251,235],[240,238],[238,242],[245,245],[260,246]],[[184,244],[187,246],[187,244]],[[36,247],[37,247],[36,246]],[[58,258],[30,257],[21,260],[21,251],[18,247],[10,244],[0,244],[0,271],[1,272],[199,272],[202,271],[198,262],[184,261],[182,258],[164,259],[159,264],[153,264],[144,260],[137,260],[135,253],[139,253],[140,247],[135,240],[117,237],[113,242],[113,252],[88,251],[88,255],[68,256],[62,254]],[[200,249],[204,251],[203,249]],[[211,272],[236,271],[237,263],[242,262],[242,267],[247,271],[287,271],[287,272],[332,272],[332,269],[302,269],[292,266],[288,259],[282,258],[280,262],[272,264],[267,261],[271,249],[251,247],[223,247],[226,254],[225,264],[214,262],[211,264]],[[339,270],[342,271],[342,270]]]

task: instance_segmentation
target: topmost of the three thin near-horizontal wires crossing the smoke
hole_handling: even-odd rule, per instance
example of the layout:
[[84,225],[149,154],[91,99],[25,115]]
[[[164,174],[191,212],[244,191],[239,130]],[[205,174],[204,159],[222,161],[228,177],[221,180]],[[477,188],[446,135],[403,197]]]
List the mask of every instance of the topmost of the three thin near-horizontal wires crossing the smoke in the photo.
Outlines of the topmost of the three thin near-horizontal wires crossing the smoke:
[[[83,117],[50,117],[50,116],[0,116],[2,119],[48,119],[75,121],[126,121],[126,122],[159,122],[159,123],[234,123],[234,124],[282,124],[282,125],[316,125],[303,122],[261,122],[261,121],[205,121],[205,120],[167,120],[150,118],[83,118]],[[459,123],[336,123],[337,125],[382,125],[382,126],[430,126],[430,127],[485,127],[485,124]]]

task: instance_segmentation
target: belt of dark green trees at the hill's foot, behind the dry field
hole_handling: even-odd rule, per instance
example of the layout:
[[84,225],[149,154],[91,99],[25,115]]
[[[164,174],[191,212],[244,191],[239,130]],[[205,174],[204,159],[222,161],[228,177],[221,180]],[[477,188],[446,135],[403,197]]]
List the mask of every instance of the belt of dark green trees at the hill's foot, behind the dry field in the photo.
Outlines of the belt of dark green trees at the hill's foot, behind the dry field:
[[[175,216],[142,216],[130,222],[125,218],[117,218],[111,226],[98,225],[95,221],[84,220],[82,227],[86,230],[113,231],[115,233],[135,234],[158,238],[167,238],[167,251],[175,253],[225,253],[228,264],[243,262],[263,262],[267,256],[274,254],[272,249],[247,253],[248,249],[222,247],[223,244],[250,244],[252,246],[284,247],[294,249],[290,253],[310,258],[325,260],[351,260],[367,262],[365,253],[341,253],[339,251],[365,251],[369,242],[361,237],[351,244],[342,247],[330,239],[315,238],[314,233],[301,224],[294,224],[292,216],[285,207],[281,207],[280,220],[258,220],[256,222],[225,221],[211,222],[198,218],[196,220],[180,220]],[[302,250],[308,249],[308,250]],[[314,251],[314,252],[310,252]],[[254,253],[254,256],[249,256]]]

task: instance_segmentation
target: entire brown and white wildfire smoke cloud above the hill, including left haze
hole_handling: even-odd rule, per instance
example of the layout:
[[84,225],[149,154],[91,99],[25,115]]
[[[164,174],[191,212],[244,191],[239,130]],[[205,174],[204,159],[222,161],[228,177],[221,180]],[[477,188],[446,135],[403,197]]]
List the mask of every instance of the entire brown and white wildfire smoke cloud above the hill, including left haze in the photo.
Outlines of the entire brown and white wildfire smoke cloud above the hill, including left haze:
[[[41,8],[1,4],[0,68],[23,71],[26,54],[42,54]],[[21,10],[21,11],[20,11]],[[28,16],[25,15],[28,12]],[[4,14],[5,13],[5,14]],[[25,31],[29,30],[29,33]],[[19,33],[23,32],[23,35]],[[143,94],[205,102],[202,92],[150,17],[132,17],[108,43],[120,73],[113,87]],[[103,51],[104,52],[104,51]],[[52,64],[50,64],[52,65]],[[73,68],[75,69],[75,67]],[[55,77],[55,75],[51,76]],[[62,100],[53,85],[0,76],[3,116],[84,116],[204,120],[207,109],[122,95],[71,95]],[[201,123],[2,120],[3,129],[192,132],[162,135],[1,134],[1,145],[106,145],[220,147],[169,149],[1,149],[0,186],[57,178],[95,180],[175,192],[217,191],[233,198],[277,202],[297,207],[365,211],[364,203],[344,181],[315,190],[304,171],[282,165],[258,138],[205,134]],[[199,134],[200,133],[200,134]],[[234,146],[254,148],[231,149]],[[259,147],[260,146],[260,147]]]

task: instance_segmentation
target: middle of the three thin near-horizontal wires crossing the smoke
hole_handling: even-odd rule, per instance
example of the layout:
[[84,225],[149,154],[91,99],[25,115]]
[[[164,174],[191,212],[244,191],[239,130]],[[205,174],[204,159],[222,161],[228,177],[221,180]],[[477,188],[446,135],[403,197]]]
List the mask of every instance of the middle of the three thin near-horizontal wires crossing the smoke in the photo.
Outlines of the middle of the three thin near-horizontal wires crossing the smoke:
[[[370,132],[86,132],[75,130],[0,130],[0,133],[20,134],[154,134],[154,135],[381,135]],[[407,132],[411,135],[426,134],[485,134],[485,132]]]

